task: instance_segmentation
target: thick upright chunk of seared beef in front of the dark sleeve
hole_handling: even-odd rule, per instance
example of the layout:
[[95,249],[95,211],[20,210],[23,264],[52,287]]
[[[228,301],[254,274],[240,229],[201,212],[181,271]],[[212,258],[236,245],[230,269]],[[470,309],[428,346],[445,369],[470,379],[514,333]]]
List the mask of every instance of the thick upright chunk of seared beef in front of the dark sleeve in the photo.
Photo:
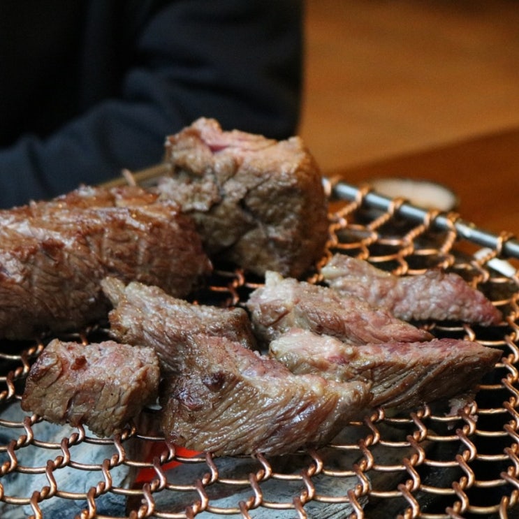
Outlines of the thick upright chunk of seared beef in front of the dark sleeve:
[[276,141],[198,119],[166,140],[173,175],[158,184],[196,221],[211,258],[298,277],[321,259],[328,204],[298,137]]

